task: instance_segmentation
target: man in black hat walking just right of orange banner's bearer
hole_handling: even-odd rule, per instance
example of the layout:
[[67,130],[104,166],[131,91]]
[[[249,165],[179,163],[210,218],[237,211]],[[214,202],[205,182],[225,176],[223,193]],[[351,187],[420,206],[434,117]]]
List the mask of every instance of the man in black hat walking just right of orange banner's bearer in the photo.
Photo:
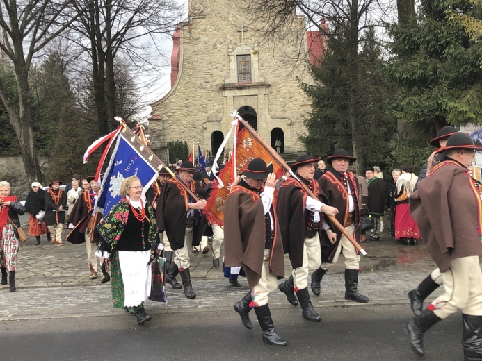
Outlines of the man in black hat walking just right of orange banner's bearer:
[[[344,149],[338,149],[332,156],[326,158],[331,168],[326,171],[318,183],[321,190],[328,198],[328,204],[339,210],[336,215],[345,230],[353,235],[355,240],[360,240],[360,208],[361,196],[358,194],[358,179],[348,171],[350,162],[356,158],[349,156]],[[321,292],[321,279],[331,265],[338,262],[340,253],[345,258],[345,299],[365,303],[369,301],[367,296],[358,293],[358,270],[360,269],[360,255],[355,246],[346,238],[342,231],[323,223],[325,232],[321,233],[321,266],[312,274],[312,291],[318,296]],[[334,232],[337,237],[335,242],[329,237]]]

